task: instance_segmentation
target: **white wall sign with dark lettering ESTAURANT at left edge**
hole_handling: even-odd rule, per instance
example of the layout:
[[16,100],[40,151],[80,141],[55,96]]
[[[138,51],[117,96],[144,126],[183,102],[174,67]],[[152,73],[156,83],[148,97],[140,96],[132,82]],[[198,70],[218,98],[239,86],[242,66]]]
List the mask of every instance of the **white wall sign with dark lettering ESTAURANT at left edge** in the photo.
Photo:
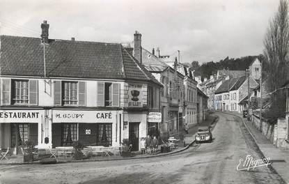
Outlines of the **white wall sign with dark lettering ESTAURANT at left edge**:
[[37,110],[0,110],[0,123],[39,123],[42,114]]

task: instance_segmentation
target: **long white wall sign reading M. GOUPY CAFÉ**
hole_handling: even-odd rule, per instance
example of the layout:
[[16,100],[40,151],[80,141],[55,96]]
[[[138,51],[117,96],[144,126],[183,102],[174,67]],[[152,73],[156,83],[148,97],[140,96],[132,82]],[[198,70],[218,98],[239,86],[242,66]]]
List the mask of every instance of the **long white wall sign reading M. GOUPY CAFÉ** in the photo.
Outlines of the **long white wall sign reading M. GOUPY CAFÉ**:
[[53,123],[113,123],[116,121],[114,111],[68,111],[54,110]]

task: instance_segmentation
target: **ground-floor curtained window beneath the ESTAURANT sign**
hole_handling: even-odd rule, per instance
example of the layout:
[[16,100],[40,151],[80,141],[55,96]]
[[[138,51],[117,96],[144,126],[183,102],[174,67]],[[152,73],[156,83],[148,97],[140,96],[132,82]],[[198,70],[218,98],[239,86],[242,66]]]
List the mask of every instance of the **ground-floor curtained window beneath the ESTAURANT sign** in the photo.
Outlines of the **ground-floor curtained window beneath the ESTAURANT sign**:
[[22,146],[29,139],[28,123],[11,123],[11,147]]

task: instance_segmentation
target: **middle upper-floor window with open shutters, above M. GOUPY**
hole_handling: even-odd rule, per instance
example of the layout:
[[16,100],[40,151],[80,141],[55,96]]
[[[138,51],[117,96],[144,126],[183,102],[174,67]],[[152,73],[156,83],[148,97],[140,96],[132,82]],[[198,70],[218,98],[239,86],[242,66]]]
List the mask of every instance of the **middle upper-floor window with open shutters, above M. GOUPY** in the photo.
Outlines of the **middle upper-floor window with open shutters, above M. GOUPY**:
[[54,105],[85,106],[86,82],[55,81]]

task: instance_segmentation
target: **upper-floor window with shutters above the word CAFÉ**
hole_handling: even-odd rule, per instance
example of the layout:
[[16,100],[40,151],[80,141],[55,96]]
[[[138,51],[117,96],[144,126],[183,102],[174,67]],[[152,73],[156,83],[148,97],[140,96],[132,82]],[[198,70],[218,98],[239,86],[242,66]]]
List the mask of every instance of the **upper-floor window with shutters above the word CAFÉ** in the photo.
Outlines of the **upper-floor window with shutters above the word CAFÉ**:
[[100,107],[119,107],[119,91],[118,83],[97,82],[97,106]]

